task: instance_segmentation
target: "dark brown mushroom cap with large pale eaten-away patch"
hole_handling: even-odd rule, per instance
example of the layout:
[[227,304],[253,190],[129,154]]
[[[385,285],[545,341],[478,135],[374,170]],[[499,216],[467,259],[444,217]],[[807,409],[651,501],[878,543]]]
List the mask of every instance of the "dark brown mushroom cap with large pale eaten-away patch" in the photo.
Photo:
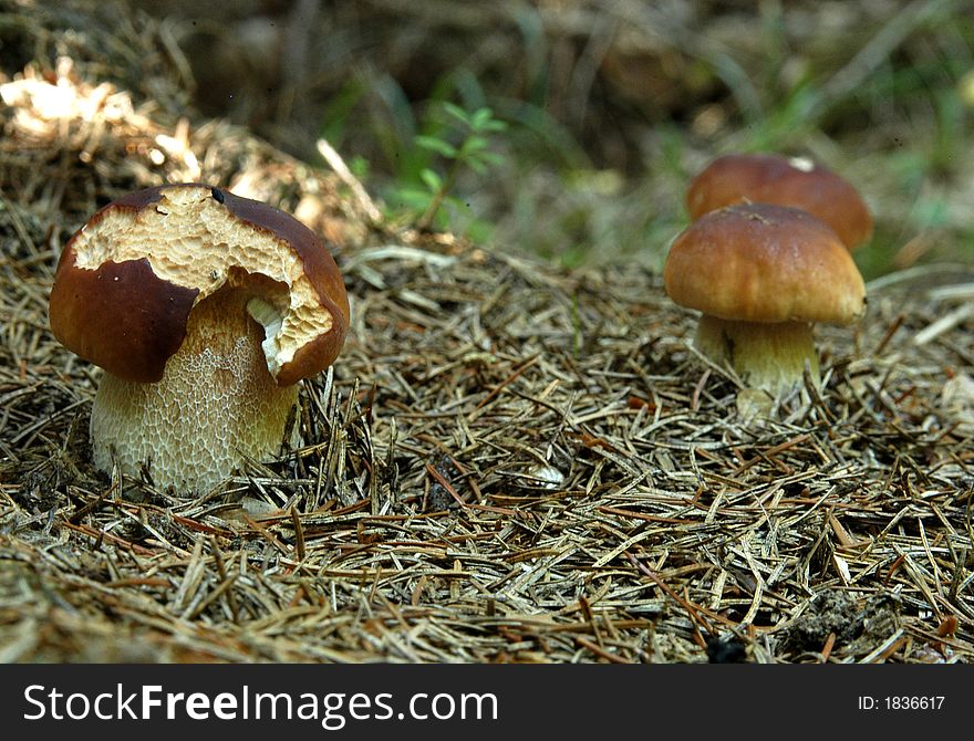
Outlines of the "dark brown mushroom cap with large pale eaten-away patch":
[[198,182],[124,196],[68,241],[51,290],[54,336],[125,380],[154,383],[190,311],[222,288],[260,302],[268,369],[289,386],[331,365],[349,299],[328,249],[267,203]]

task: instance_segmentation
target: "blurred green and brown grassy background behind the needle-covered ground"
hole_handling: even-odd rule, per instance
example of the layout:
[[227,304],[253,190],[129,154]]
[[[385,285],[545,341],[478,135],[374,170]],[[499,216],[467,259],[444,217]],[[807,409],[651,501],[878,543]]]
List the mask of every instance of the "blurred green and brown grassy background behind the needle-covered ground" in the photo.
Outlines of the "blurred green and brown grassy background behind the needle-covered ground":
[[[877,220],[856,253],[867,278],[974,263],[974,0],[125,0],[86,12],[158,22],[153,63],[186,92],[155,93],[160,107],[226,117],[322,166],[324,137],[397,223],[569,267],[659,269],[687,222],[688,180],[721,154],[771,150],[863,194]],[[148,64],[148,50],[122,51]],[[35,50],[0,53],[13,74]]]

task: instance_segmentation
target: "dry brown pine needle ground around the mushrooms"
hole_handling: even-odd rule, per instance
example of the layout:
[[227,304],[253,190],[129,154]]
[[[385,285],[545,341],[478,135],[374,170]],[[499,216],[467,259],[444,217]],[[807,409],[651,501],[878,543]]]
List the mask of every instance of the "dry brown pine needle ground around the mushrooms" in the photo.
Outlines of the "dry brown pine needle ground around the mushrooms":
[[[647,273],[370,227],[340,178],[66,61],[4,83],[0,660],[974,658],[974,327],[935,270],[746,422]],[[200,174],[342,240],[353,332],[305,446],[184,500],[93,470],[100,372],[46,296],[93,208]]]

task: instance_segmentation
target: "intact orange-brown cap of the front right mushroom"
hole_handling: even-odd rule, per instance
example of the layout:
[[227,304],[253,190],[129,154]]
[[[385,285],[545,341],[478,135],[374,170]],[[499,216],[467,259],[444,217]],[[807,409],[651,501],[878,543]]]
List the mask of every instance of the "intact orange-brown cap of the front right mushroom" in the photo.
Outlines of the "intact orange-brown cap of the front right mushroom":
[[862,276],[836,232],[786,206],[703,216],[673,242],[663,281],[676,303],[724,320],[851,324],[866,311]]

